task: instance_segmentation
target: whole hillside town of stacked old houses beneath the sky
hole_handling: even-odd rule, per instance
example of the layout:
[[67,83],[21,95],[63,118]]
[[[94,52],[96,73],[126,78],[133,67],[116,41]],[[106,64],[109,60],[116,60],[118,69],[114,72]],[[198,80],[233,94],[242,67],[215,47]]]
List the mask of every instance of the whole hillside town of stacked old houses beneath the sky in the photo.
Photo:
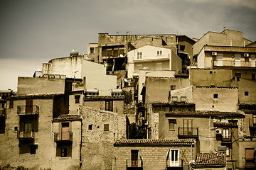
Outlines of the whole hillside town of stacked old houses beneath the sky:
[[0,169],[256,169],[255,56],[239,30],[99,33],[0,89]]

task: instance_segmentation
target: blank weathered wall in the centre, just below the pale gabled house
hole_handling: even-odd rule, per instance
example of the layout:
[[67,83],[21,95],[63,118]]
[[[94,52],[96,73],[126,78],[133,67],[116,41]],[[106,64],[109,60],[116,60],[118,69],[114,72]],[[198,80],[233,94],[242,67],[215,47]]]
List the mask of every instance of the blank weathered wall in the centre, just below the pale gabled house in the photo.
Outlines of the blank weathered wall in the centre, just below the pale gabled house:
[[169,91],[171,91],[171,86],[176,86],[176,89],[181,89],[189,86],[189,80],[170,77],[146,77],[145,86],[146,102],[165,102],[169,101]]

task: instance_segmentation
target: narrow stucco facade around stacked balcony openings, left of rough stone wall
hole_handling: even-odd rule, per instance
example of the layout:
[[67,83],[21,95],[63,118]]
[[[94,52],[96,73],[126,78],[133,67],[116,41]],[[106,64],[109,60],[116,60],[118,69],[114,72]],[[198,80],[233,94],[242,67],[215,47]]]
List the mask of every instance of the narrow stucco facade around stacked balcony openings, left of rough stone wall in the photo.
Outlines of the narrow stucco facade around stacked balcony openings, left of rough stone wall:
[[[57,157],[56,149],[57,143],[54,142],[54,132],[61,132],[61,123],[70,123],[70,132],[73,132],[72,140],[72,156],[71,157]],[[73,170],[80,169],[80,145],[81,145],[81,121],[80,120],[64,120],[53,122],[52,128],[52,169]]]

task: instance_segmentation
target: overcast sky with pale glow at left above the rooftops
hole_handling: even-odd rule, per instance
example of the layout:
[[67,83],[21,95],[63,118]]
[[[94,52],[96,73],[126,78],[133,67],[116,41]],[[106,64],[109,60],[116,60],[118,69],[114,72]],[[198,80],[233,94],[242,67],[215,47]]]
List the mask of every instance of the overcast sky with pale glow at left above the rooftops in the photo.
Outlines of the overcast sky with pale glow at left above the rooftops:
[[43,62],[68,57],[98,33],[201,38],[223,27],[256,40],[255,0],[0,0],[0,89],[16,91]]

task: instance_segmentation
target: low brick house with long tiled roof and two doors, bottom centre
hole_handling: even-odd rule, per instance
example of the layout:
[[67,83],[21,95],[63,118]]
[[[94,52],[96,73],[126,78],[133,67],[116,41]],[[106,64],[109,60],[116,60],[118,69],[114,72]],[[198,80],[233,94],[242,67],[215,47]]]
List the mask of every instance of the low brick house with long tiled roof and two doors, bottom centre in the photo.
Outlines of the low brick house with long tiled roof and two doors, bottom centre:
[[117,140],[113,169],[188,169],[196,157],[196,141]]

